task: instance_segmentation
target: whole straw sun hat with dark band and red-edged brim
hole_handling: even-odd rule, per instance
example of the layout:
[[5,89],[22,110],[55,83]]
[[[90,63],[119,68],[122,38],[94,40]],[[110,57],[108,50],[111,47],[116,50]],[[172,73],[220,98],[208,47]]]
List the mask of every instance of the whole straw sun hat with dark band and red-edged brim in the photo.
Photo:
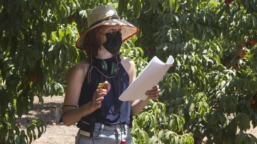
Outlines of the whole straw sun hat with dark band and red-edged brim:
[[126,32],[122,35],[122,42],[139,32],[139,29],[136,26],[133,26],[124,20],[120,20],[117,11],[110,5],[97,6],[90,10],[87,21],[88,30],[79,37],[75,45],[78,49],[83,49],[81,45],[83,45],[83,40],[86,33],[99,26],[125,26]]

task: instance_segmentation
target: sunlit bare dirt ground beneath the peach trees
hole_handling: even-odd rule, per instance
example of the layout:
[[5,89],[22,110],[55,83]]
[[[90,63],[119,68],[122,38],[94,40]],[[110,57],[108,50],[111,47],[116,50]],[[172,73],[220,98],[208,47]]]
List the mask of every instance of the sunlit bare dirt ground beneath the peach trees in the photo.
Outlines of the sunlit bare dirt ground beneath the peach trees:
[[[46,132],[41,135],[39,139],[32,141],[32,144],[74,144],[75,136],[77,135],[77,131],[79,128],[76,127],[76,124],[71,125],[70,127],[65,126],[63,123],[58,123],[55,119],[55,107],[62,106],[64,101],[64,96],[53,96],[44,97],[44,107],[41,108],[42,105],[38,104],[38,97],[34,97],[34,108],[29,110],[27,115],[22,115],[21,119],[17,119],[17,122],[21,123],[20,130],[25,129],[29,122],[27,119],[33,120],[35,118],[40,118],[44,120],[46,124]],[[46,123],[46,120],[49,120],[49,123]],[[56,125],[52,125],[55,122]],[[35,129],[36,134],[38,134],[37,129]],[[25,129],[25,133],[27,133]],[[251,133],[257,137],[257,128],[246,131],[246,133]],[[203,143],[207,138],[205,137]]]

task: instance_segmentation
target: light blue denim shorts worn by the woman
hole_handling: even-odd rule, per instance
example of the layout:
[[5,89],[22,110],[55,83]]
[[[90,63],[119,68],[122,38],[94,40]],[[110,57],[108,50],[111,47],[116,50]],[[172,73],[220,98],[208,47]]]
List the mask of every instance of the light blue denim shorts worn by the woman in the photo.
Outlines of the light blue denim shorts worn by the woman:
[[[93,133],[94,144],[132,144],[129,125],[117,124],[107,126],[103,123],[95,122]],[[92,138],[77,133],[75,144],[93,144]]]

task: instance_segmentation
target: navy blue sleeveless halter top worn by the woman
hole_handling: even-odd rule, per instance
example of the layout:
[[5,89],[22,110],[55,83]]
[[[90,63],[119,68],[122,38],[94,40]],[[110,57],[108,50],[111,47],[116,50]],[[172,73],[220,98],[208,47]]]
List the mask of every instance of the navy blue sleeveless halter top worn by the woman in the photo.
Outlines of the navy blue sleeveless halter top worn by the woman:
[[[97,59],[97,58],[96,58]],[[117,63],[115,58],[104,59],[107,64],[107,70],[102,73],[107,77],[111,77],[115,74],[110,73],[111,63]],[[120,86],[118,85],[118,79]],[[95,117],[95,122],[104,123],[106,125],[116,125],[119,124],[128,124],[129,127],[132,127],[132,113],[130,111],[130,101],[120,101],[119,100],[119,88],[120,94],[122,94],[126,88],[129,86],[129,75],[119,63],[119,73],[112,78],[106,78],[98,72],[97,69],[93,68],[91,71],[91,83],[87,83],[87,75],[82,83],[81,93],[79,96],[79,107],[90,102],[93,99],[93,93],[98,87],[99,83],[108,81],[111,85],[110,91],[107,95],[104,96],[102,100],[102,105],[99,109],[96,109],[94,113],[91,113]],[[120,101],[120,102],[119,102]],[[120,109],[119,109],[120,106]],[[119,120],[119,111],[120,111],[120,120]],[[79,127],[80,121],[77,123]]]

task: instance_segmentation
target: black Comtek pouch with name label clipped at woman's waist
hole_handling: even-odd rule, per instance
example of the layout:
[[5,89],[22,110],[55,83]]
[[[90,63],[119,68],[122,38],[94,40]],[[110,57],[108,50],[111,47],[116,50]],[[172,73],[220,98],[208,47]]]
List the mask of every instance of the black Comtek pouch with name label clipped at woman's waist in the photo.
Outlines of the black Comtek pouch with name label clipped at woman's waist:
[[95,118],[92,115],[87,115],[80,119],[79,134],[93,137],[94,129]]

